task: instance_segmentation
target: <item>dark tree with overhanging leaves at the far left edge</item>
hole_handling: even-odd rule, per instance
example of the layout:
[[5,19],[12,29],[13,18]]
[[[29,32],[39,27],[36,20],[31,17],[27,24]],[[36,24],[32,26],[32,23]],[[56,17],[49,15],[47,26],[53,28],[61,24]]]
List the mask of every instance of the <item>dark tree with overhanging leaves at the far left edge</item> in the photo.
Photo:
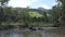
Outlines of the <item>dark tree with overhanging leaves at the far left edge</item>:
[[2,0],[1,2],[1,7],[0,7],[0,29],[3,29],[3,26],[1,25],[3,17],[4,17],[4,13],[3,13],[3,5],[8,3],[9,0]]

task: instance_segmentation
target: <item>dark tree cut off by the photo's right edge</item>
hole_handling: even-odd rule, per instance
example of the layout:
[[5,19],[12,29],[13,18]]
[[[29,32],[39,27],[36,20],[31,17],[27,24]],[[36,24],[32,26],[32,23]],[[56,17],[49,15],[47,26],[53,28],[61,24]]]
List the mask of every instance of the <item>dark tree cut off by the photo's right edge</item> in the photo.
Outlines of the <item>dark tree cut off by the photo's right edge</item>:
[[60,7],[62,9],[62,16],[61,16],[61,26],[65,26],[65,0],[57,0],[60,2]]

